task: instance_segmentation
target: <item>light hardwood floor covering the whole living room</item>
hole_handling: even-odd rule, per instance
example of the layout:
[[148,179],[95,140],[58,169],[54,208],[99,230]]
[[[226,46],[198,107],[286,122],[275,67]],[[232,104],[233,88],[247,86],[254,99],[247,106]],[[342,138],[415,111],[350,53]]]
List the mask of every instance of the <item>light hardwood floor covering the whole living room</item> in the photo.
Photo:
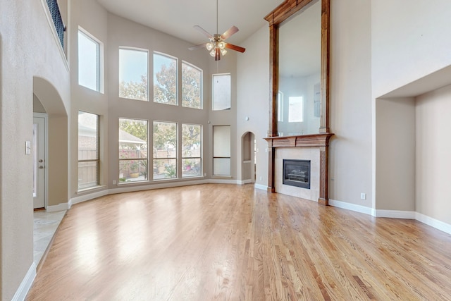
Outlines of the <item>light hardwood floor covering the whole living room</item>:
[[195,185],[76,204],[27,300],[451,300],[451,235]]

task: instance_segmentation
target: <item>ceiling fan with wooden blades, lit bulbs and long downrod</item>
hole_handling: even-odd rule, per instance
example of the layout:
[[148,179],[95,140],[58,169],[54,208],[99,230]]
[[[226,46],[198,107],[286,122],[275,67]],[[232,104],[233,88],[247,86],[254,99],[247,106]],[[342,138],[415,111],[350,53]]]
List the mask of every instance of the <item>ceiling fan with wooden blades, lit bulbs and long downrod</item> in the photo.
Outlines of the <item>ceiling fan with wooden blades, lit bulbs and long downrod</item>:
[[[190,50],[206,47],[206,49],[210,51],[210,55],[214,56],[215,61],[219,61],[221,59],[221,54],[225,55],[227,53],[226,48],[240,52],[246,51],[246,49],[243,47],[226,42],[226,39],[228,39],[238,31],[238,27],[236,26],[230,27],[222,35],[219,35],[218,33],[211,35],[209,32],[204,30],[204,28],[200,27],[199,25],[195,25],[194,28],[196,30],[199,30],[199,32],[202,32],[206,37],[208,37],[210,42],[189,47],[188,49]],[[216,32],[218,32],[218,0],[216,0]]]

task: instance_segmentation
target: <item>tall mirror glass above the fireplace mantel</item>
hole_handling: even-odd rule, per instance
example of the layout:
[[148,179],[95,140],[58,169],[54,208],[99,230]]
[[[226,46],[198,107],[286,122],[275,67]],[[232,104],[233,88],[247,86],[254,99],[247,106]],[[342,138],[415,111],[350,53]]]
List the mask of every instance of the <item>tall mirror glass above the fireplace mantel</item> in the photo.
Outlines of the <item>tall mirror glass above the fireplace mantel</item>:
[[321,1],[280,24],[279,136],[319,133],[321,126]]

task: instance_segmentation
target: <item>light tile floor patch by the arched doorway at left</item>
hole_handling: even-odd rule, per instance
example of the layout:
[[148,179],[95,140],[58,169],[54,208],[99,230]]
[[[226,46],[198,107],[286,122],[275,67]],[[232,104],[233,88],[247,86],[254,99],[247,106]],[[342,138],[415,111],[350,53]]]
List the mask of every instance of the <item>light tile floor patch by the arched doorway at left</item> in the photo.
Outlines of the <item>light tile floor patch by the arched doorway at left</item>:
[[33,213],[33,255],[35,264],[39,264],[64,214],[66,214],[66,210],[56,212],[42,210]]

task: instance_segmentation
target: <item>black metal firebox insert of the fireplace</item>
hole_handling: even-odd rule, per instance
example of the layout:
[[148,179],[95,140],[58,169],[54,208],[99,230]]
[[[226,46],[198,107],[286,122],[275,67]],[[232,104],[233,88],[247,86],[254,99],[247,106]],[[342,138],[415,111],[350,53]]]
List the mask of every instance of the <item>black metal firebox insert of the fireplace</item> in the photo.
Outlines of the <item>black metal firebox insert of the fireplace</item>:
[[283,159],[283,185],[310,189],[310,160]]

